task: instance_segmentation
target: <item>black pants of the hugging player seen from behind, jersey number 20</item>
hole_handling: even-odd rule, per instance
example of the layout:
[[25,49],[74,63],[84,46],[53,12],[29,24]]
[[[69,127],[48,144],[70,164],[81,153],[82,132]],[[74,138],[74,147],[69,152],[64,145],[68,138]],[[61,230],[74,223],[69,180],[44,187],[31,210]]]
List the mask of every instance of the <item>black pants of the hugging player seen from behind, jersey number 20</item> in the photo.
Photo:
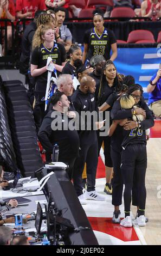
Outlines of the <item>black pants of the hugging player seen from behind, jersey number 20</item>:
[[146,188],[145,173],[147,168],[147,155],[145,144],[130,144],[121,153],[121,174],[125,184],[124,204],[125,211],[130,211],[131,191],[134,181],[137,182],[138,206],[145,209]]

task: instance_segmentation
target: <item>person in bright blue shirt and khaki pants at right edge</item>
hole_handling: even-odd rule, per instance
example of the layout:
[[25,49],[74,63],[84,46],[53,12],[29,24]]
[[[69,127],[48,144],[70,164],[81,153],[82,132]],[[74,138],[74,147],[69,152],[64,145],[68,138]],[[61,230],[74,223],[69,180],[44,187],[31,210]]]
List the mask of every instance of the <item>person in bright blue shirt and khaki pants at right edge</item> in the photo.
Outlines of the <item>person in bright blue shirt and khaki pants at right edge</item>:
[[161,63],[157,74],[154,74],[147,86],[149,93],[148,105],[155,117],[161,117]]

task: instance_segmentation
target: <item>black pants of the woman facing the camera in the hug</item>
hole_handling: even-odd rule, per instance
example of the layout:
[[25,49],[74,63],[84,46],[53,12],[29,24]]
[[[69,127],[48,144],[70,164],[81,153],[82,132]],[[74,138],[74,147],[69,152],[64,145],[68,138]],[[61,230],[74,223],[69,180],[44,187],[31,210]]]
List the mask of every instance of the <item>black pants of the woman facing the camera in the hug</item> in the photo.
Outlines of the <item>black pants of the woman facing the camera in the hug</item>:
[[[111,158],[113,162],[113,184],[112,184],[112,204],[119,206],[122,204],[123,195],[123,179],[121,175],[121,153],[111,148]],[[132,187],[132,205],[138,206],[138,189],[137,189],[137,177],[134,173],[133,187]]]

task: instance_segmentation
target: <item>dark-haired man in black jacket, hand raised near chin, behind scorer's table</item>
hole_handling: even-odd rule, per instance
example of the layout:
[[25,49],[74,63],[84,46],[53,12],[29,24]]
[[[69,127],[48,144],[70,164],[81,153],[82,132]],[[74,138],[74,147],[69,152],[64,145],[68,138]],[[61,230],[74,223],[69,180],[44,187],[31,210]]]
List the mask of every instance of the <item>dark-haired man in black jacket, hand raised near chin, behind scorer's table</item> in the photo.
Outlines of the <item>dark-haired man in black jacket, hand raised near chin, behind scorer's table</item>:
[[[79,136],[76,130],[69,129],[68,124],[75,118],[75,113],[68,112],[70,101],[62,92],[57,91],[51,96],[51,104],[53,109],[44,117],[38,132],[38,139],[50,155],[53,153],[53,145],[55,143],[59,145],[59,161],[69,164],[67,173],[72,179],[74,162],[79,155]],[[57,118],[63,124],[61,129],[55,120]]]

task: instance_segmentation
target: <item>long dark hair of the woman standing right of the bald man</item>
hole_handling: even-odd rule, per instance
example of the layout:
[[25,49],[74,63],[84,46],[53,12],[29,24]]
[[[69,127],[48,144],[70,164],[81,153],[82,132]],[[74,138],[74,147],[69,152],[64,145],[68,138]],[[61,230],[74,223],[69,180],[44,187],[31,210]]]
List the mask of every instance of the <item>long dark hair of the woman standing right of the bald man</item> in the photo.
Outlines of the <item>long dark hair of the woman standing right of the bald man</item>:
[[[103,93],[104,93],[104,88],[106,86],[106,83],[108,84],[108,81],[106,80],[106,75],[104,74],[104,70],[106,70],[108,65],[113,65],[114,68],[115,68],[114,63],[110,59],[107,60],[106,65],[102,68],[100,87],[99,87],[99,93],[98,93],[98,106],[101,103],[101,99],[102,99],[102,96],[103,96]],[[115,87],[115,92],[120,92],[121,82],[118,80],[118,74],[116,74],[116,77],[114,78],[113,85]]]

